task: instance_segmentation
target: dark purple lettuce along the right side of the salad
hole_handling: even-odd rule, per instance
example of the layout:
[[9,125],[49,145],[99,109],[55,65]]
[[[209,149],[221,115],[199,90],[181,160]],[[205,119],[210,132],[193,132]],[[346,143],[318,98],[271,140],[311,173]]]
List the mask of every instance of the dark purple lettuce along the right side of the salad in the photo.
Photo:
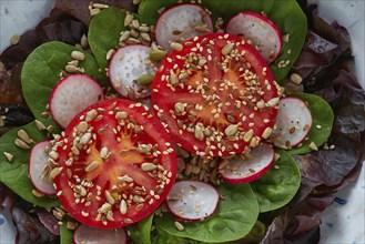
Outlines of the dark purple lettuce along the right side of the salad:
[[304,79],[305,92],[332,106],[335,121],[327,144],[335,148],[294,156],[302,172],[301,189],[271,222],[262,243],[318,243],[316,214],[333,203],[333,193],[357,179],[365,159],[365,92],[351,74],[349,34],[337,22],[322,20],[316,7],[305,11],[311,30],[293,72]]

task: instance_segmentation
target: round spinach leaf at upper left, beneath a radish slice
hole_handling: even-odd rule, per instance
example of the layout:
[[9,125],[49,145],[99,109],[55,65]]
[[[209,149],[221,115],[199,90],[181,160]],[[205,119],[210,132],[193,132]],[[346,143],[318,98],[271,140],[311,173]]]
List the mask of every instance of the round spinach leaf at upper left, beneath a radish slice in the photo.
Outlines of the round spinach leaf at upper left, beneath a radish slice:
[[[40,114],[47,110],[52,89],[60,80],[59,74],[72,60],[71,52],[75,50],[78,49],[63,42],[47,42],[30,53],[22,68],[21,85],[27,104],[36,119],[47,125],[57,128],[51,118],[44,119]],[[80,62],[80,67],[84,68],[85,74],[99,82],[103,81],[95,59],[90,53],[84,54],[85,59]]]

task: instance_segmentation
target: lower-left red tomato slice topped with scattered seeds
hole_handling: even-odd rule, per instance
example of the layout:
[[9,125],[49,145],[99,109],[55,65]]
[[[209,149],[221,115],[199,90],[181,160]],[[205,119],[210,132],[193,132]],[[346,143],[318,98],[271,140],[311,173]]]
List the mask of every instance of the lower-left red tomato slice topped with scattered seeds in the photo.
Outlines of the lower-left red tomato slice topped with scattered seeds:
[[175,181],[171,136],[141,103],[111,99],[93,104],[53,144],[61,204],[92,227],[118,228],[146,217]]

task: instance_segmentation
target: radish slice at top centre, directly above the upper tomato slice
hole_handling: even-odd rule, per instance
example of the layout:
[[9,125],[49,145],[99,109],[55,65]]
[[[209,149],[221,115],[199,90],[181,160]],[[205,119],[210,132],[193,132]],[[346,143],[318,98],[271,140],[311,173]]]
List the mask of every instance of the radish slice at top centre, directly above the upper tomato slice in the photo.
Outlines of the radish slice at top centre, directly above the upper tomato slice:
[[155,27],[155,39],[164,50],[171,50],[171,42],[181,42],[213,31],[209,12],[193,3],[174,6],[164,11]]

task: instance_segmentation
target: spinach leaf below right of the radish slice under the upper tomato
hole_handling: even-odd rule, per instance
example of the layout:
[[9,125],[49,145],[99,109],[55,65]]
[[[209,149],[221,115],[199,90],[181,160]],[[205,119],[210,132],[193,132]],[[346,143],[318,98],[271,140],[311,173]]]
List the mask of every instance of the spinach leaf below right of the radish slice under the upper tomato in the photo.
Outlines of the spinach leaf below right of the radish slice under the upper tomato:
[[261,179],[250,183],[260,205],[268,212],[286,205],[301,185],[301,172],[294,159],[284,150],[277,150],[280,157]]

